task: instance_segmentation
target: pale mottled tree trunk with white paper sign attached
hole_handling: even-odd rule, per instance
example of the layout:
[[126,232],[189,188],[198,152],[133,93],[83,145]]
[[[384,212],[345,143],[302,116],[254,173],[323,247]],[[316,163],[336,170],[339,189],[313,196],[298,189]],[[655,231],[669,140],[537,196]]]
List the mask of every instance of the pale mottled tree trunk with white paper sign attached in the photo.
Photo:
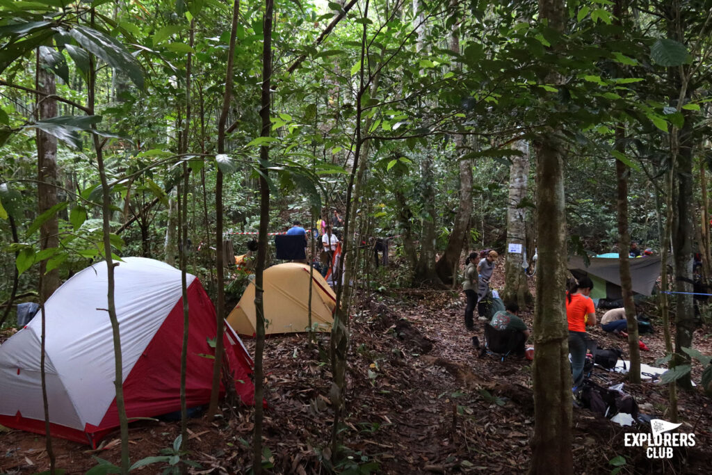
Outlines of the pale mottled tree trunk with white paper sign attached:
[[[527,209],[520,207],[527,196],[529,179],[529,145],[524,140],[518,140],[514,148],[522,152],[512,159],[509,169],[509,202],[507,205],[507,244],[519,244],[519,252],[507,252],[504,267],[504,292],[502,300],[515,301],[520,307],[532,303],[533,297],[529,291],[529,283],[524,273],[524,252],[526,249],[526,214]],[[533,249],[532,249],[533,251]]]

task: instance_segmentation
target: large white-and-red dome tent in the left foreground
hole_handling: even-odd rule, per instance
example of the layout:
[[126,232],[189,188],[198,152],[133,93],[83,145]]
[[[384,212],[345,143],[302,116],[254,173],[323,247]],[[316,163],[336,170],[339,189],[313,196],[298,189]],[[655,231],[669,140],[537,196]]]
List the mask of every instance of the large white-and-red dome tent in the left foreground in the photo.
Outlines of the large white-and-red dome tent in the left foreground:
[[[215,308],[188,275],[187,404],[210,400]],[[70,278],[48,298],[46,382],[51,433],[97,442],[119,426],[115,359],[107,304],[106,263]],[[115,267],[123,390],[128,417],[180,409],[183,344],[181,273],[167,263],[128,257]],[[44,434],[40,373],[41,313],[0,346],[0,424]],[[253,404],[252,360],[237,335],[224,339],[226,362],[241,400]]]

